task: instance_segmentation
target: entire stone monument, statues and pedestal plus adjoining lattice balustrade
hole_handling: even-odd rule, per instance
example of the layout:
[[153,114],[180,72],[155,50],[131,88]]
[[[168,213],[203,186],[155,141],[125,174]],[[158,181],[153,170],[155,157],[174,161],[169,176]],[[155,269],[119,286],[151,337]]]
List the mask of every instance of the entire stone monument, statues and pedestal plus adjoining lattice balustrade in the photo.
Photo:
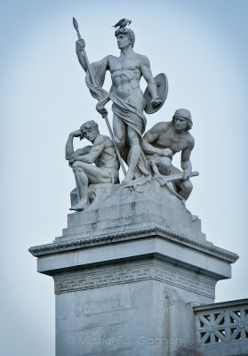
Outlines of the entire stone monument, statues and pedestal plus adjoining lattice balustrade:
[[[101,117],[85,117],[68,135],[76,188],[66,228],[52,243],[29,248],[37,271],[54,280],[56,356],[248,355],[248,299],[214,303],[216,283],[231,277],[238,255],[208,241],[185,204],[198,175],[191,113],[179,105],[146,128],[168,82],[133,51],[131,23],[114,26],[118,57],[90,63],[73,21],[76,55]],[[104,120],[109,137],[100,133]]]

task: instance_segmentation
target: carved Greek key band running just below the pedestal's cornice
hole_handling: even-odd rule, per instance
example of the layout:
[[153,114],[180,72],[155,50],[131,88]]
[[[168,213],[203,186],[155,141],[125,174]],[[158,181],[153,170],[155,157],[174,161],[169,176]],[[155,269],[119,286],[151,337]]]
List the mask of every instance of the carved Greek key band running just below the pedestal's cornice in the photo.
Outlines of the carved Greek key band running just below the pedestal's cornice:
[[68,275],[58,274],[54,278],[55,295],[79,290],[109,287],[141,280],[155,279],[166,284],[181,287],[199,295],[214,298],[216,280],[204,279],[175,271],[156,263],[143,263],[131,267],[112,268],[107,271],[81,271]]

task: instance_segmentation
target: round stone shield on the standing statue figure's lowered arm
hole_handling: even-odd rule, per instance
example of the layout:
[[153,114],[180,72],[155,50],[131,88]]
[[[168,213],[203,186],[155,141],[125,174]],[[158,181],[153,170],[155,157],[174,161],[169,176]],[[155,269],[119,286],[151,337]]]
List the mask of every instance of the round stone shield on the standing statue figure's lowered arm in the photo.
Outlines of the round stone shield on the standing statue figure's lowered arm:
[[156,108],[153,108],[151,101],[152,101],[152,96],[151,93],[148,89],[145,90],[144,93],[144,98],[146,101],[146,107],[145,107],[145,111],[147,114],[153,114],[154,112],[156,112],[157,110],[161,109],[164,105],[164,101],[167,98],[167,94],[168,94],[168,79],[165,76],[164,73],[160,73],[158,74],[155,78],[154,78],[156,85],[157,85],[157,94],[159,96],[159,98],[161,99],[161,104],[159,106],[157,106]]

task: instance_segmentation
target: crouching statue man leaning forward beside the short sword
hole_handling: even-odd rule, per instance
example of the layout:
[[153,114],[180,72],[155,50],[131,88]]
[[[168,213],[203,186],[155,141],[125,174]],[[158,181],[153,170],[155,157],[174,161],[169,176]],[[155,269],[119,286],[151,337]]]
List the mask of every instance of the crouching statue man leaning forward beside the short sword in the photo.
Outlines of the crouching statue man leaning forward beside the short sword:
[[193,186],[189,181],[192,173],[190,154],[194,148],[194,137],[188,133],[193,123],[188,109],[177,109],[171,122],[160,122],[154,125],[143,137],[143,150],[148,158],[156,164],[159,174],[170,175],[181,173],[172,166],[172,156],[181,151],[181,168],[183,178],[174,183],[178,194],[188,199]]

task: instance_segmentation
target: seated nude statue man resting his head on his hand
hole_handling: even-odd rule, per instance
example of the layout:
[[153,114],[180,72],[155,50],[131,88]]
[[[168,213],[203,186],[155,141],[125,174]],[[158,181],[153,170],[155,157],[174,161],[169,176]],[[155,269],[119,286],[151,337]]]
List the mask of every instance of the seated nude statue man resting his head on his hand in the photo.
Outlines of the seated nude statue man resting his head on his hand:
[[[92,142],[92,146],[75,151],[73,146],[75,137],[80,137],[80,140],[87,139]],[[71,206],[70,210],[81,211],[89,206],[89,184],[119,182],[119,161],[113,142],[108,136],[100,134],[95,121],[86,121],[79,130],[69,134],[66,144],[66,159],[75,174],[78,198],[78,204]]]

